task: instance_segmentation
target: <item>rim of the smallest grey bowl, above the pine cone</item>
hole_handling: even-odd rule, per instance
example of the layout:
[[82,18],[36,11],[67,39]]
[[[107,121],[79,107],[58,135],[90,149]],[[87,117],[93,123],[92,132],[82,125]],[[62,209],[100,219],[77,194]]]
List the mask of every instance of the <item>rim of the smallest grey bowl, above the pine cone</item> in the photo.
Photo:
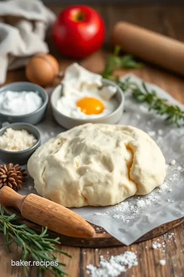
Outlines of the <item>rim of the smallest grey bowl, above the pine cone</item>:
[[[26,153],[27,151],[33,150],[34,148],[37,148],[37,147],[39,146],[39,144],[40,144],[40,142],[41,142],[41,133],[40,133],[40,131],[38,130],[38,128],[35,127],[35,126],[32,125],[32,124],[24,123],[24,122],[11,123],[11,124],[8,124],[7,126],[1,128],[1,129],[0,129],[0,133],[1,133],[2,131],[5,132],[6,129],[12,128],[13,126],[17,126],[17,125],[26,125],[26,126],[29,126],[29,127],[32,127],[33,129],[35,129],[35,130],[37,131],[37,133],[38,133],[38,137],[36,137],[36,138],[37,138],[36,144],[33,145],[33,146],[31,146],[31,147],[29,147],[29,148],[27,148],[27,149],[25,149],[25,150],[21,150],[21,151],[8,151],[8,150],[4,150],[4,149],[1,149],[1,148],[0,148],[0,152],[3,152],[3,153],[5,153],[5,154],[13,154],[13,155],[15,155],[15,154],[24,154],[24,153]],[[13,129],[13,128],[12,128],[12,129]],[[24,128],[23,128],[23,129],[24,129]],[[27,129],[26,129],[26,130],[27,130]],[[28,131],[28,130],[27,130],[27,131]],[[3,132],[3,133],[4,133],[4,132]],[[28,132],[29,132],[29,131],[28,131]],[[30,132],[29,132],[29,133],[30,133]],[[31,134],[33,134],[33,133],[31,133]],[[0,134],[0,136],[2,136],[2,135]]]

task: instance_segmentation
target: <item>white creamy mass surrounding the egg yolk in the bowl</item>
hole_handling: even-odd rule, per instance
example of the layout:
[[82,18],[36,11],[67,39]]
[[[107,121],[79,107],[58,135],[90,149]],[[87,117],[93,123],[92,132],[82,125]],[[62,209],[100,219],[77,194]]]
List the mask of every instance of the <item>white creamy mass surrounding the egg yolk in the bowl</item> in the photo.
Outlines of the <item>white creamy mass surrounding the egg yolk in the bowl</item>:
[[[62,114],[74,118],[99,118],[112,113],[119,103],[112,98],[117,92],[113,86],[102,87],[102,76],[89,72],[77,63],[69,66],[62,84],[62,96],[57,100],[56,109]],[[93,97],[103,103],[104,110],[99,114],[85,114],[76,103],[82,98]]]

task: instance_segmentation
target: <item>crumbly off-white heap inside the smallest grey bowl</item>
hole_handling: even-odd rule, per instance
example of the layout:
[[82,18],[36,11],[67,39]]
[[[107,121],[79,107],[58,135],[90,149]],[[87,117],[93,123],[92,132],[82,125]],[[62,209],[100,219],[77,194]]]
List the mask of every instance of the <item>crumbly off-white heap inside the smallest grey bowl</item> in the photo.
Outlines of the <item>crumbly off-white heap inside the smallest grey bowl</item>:
[[0,148],[6,151],[22,151],[37,143],[36,137],[27,130],[7,128],[0,136]]

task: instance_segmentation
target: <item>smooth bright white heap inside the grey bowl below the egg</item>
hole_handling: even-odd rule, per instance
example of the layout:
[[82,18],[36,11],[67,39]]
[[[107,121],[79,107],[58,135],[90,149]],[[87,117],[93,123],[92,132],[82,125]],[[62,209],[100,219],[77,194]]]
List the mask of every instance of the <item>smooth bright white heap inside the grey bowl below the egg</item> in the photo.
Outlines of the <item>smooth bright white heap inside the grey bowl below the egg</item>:
[[3,91],[0,93],[0,112],[8,115],[24,115],[36,111],[42,98],[33,91]]

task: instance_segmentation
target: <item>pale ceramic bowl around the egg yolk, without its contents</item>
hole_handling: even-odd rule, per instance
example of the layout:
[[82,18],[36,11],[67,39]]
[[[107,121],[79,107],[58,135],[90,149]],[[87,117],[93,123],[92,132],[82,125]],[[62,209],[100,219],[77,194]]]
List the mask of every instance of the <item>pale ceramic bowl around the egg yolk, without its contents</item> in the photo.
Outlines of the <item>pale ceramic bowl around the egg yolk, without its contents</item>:
[[95,118],[95,119],[91,119],[91,118],[90,119],[80,119],[80,118],[73,118],[73,117],[66,116],[56,109],[57,100],[61,96],[61,93],[62,93],[62,85],[60,84],[53,90],[52,95],[51,95],[52,112],[53,112],[53,116],[54,116],[55,120],[57,121],[57,123],[66,129],[71,129],[75,126],[85,124],[85,123],[116,124],[120,120],[120,118],[123,114],[124,102],[125,102],[124,93],[123,93],[122,89],[116,83],[114,83],[112,81],[103,79],[102,84],[103,84],[103,86],[110,85],[110,86],[117,87],[117,93],[114,97],[117,98],[117,100],[119,102],[119,106],[115,111],[113,111],[112,113],[110,113],[108,115],[105,115],[105,116],[99,117],[99,118]]

